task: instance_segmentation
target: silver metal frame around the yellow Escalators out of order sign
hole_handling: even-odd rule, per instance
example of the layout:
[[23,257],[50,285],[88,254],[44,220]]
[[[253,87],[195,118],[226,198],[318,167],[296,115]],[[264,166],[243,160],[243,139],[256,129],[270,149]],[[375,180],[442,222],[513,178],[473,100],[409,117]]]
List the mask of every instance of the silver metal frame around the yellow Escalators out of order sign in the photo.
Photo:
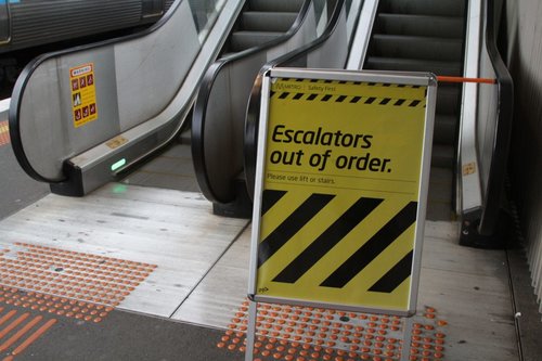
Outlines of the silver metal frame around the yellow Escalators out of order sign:
[[[262,195],[264,185],[264,171],[266,171],[266,156],[268,150],[268,126],[270,119],[270,98],[271,86],[273,79],[302,79],[302,80],[324,80],[324,81],[338,81],[338,82],[354,82],[354,83],[379,83],[379,85],[393,85],[393,86],[412,86],[426,87],[425,93],[425,124],[422,145],[422,159],[420,163],[418,173],[418,189],[417,189],[417,205],[416,218],[413,240],[413,255],[412,255],[412,269],[410,273],[410,295],[408,301],[408,309],[389,309],[385,307],[367,307],[366,305],[345,305],[334,304],[321,300],[287,298],[267,296],[257,289],[258,282],[258,249],[260,246],[260,232],[261,232],[261,209],[262,209]],[[431,157],[433,144],[433,130],[435,120],[436,108],[436,89],[437,80],[433,74],[428,73],[385,73],[385,72],[349,72],[349,70],[318,70],[318,69],[300,69],[300,68],[274,68],[269,70],[262,82],[262,95],[260,107],[260,125],[258,130],[258,155],[256,168],[256,189],[255,189],[255,206],[253,212],[253,233],[251,233],[251,254],[249,266],[249,285],[248,298],[250,299],[249,307],[249,327],[247,338],[247,358],[251,357],[254,345],[255,324],[256,318],[256,304],[257,302],[271,302],[271,304],[287,304],[294,306],[312,306],[319,308],[331,308],[345,311],[357,312],[371,312],[371,313],[386,313],[401,317],[411,317],[416,312],[420,271],[421,271],[421,256],[422,245],[424,237],[424,222],[426,215],[427,193],[429,183],[429,167]],[[369,162],[369,160],[367,160]],[[309,295],[310,296],[310,295]]]

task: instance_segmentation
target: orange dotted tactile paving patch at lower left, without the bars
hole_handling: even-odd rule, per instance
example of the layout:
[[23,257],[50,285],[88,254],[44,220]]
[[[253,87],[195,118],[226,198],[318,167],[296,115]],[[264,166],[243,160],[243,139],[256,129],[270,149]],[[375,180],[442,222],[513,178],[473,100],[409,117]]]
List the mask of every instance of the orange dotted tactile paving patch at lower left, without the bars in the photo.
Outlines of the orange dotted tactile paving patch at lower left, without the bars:
[[100,322],[155,265],[27,243],[0,248],[0,302]]

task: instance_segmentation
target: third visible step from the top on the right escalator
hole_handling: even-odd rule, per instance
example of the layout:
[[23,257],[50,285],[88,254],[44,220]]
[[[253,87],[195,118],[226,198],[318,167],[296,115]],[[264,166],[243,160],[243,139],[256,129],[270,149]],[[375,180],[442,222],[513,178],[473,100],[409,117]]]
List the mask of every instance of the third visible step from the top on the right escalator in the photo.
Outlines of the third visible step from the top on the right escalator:
[[430,61],[461,62],[461,39],[429,36],[375,34],[371,42],[371,54],[385,57],[423,59]]

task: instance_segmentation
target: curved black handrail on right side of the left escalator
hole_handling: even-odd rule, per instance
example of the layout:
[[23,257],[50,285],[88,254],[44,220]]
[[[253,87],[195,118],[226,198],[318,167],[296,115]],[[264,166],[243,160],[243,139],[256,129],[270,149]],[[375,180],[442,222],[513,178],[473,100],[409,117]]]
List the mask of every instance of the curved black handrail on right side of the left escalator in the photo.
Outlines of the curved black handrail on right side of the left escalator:
[[307,17],[308,11],[312,0],[305,0],[301,10],[299,11],[294,24],[289,29],[281,35],[280,37],[270,40],[261,46],[253,47],[244,51],[232,53],[224,57],[217,60],[207,69],[205,76],[199,86],[199,91],[197,93],[196,102],[194,104],[194,115],[193,118],[199,119],[197,127],[194,127],[194,121],[192,123],[192,159],[194,164],[194,170],[198,179],[198,185],[205,197],[211,202],[220,202],[220,197],[214,192],[212,188],[209,185],[210,180],[207,175],[207,167],[205,160],[205,140],[204,140],[204,129],[207,107],[209,104],[209,99],[212,90],[212,86],[218,78],[220,72],[224,69],[228,65],[232,65],[235,62],[247,59],[251,55],[264,52],[273,47],[276,47],[288,39],[291,39],[300,29],[304,21]]

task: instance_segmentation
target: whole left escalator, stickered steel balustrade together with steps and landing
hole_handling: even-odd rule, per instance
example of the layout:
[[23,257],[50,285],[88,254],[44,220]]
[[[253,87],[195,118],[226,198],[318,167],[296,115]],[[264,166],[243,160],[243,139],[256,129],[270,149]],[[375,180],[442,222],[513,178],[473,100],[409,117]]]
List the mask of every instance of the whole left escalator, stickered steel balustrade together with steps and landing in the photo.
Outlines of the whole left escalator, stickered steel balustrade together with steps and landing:
[[[53,193],[82,196],[166,151],[162,160],[183,162],[182,175],[170,172],[178,165],[156,171],[143,165],[144,175],[126,182],[197,191],[190,150],[171,144],[206,69],[220,53],[273,41],[307,15],[309,3],[176,1],[143,33],[36,59],[17,80],[10,106],[18,163]],[[179,177],[156,173],[185,181],[173,185]]]

